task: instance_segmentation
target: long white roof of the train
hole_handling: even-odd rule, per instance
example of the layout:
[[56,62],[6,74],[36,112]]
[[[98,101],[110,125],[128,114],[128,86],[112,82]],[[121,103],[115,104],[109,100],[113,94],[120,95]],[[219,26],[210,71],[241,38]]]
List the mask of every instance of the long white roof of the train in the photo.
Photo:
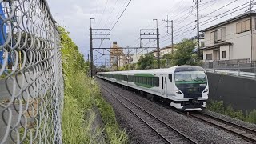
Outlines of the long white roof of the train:
[[150,69],[150,70],[128,70],[128,71],[110,71],[110,72],[101,72],[98,74],[142,74],[142,73],[163,73],[163,74],[168,74],[171,71],[175,71],[175,70],[184,70],[184,69],[188,69],[188,68],[192,68],[192,69],[196,69],[196,70],[204,70],[202,67],[200,66],[173,66],[170,68],[166,68],[166,69]]

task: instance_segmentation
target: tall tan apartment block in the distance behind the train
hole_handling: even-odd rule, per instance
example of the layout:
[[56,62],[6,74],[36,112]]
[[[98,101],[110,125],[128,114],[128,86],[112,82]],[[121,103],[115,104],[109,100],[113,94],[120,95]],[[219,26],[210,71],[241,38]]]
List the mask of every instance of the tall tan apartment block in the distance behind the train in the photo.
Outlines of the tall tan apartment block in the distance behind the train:
[[110,49],[110,66],[115,67],[117,63],[118,66],[126,65],[126,55],[123,53],[122,47],[118,47],[118,42],[113,42],[113,46]]

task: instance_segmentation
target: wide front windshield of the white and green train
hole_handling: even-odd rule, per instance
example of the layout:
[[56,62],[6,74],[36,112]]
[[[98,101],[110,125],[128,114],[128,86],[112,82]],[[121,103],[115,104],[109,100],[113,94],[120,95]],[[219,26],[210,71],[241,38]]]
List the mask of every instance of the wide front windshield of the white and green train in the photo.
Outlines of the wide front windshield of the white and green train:
[[206,83],[204,71],[179,71],[175,72],[176,83]]

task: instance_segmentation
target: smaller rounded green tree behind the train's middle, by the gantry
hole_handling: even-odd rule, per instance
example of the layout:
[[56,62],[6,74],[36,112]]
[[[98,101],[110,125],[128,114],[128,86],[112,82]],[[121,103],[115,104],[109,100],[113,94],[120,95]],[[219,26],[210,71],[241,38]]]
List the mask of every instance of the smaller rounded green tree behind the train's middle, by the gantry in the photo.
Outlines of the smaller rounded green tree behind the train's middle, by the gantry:
[[140,69],[152,69],[154,66],[154,55],[153,54],[145,54],[145,56],[141,56],[138,60],[138,66]]

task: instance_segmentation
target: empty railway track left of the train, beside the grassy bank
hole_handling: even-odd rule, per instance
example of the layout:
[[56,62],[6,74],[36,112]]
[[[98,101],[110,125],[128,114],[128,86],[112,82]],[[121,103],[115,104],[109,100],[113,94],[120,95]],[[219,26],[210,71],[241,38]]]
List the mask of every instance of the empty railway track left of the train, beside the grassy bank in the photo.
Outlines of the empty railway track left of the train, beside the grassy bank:
[[118,102],[130,110],[131,114],[134,114],[146,126],[153,130],[155,134],[158,134],[158,136],[162,138],[165,143],[197,143],[188,138],[185,134],[182,134],[176,130],[174,127],[168,125],[166,122],[163,122],[153,114],[150,114],[150,112],[146,111],[141,106],[131,102],[122,94],[118,94],[114,90],[110,91],[109,87],[102,83],[101,85],[103,90],[106,90],[107,93],[109,93],[111,96],[113,96],[113,98],[117,99]]

